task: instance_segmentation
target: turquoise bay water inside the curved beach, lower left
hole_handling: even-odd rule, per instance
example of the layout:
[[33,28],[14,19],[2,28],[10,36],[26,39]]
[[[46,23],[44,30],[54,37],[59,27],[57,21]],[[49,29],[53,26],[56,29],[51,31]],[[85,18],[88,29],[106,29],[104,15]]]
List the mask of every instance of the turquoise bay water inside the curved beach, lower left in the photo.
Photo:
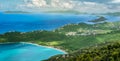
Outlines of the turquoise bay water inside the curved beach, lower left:
[[57,54],[65,52],[28,43],[0,44],[0,61],[41,61]]

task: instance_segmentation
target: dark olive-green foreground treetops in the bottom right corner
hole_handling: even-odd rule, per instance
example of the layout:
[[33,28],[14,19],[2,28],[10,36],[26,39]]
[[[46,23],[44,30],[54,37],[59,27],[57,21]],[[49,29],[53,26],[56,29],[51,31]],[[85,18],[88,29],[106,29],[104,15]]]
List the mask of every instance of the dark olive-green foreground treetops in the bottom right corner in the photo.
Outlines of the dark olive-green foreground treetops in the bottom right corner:
[[120,61],[120,43],[105,42],[71,54],[57,55],[45,61]]

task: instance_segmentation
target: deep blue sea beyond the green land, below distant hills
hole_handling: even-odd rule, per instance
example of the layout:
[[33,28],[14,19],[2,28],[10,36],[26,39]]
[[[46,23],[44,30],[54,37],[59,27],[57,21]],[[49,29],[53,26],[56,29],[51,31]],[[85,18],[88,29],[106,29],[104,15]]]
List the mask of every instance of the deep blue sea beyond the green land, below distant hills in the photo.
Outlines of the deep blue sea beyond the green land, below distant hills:
[[[35,30],[54,30],[71,23],[87,22],[101,15],[75,14],[4,14],[0,13],[0,34],[9,31],[29,32]],[[118,21],[118,16],[103,15],[108,21]]]

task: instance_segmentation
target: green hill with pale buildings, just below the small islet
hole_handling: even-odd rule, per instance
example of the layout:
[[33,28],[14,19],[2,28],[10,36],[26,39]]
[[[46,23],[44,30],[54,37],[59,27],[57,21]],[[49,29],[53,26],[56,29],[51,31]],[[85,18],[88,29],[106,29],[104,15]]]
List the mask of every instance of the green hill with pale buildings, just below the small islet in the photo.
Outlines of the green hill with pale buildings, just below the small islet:
[[111,31],[120,30],[120,22],[103,22],[97,24],[69,24],[56,29],[66,35],[91,35],[91,34],[105,34]]

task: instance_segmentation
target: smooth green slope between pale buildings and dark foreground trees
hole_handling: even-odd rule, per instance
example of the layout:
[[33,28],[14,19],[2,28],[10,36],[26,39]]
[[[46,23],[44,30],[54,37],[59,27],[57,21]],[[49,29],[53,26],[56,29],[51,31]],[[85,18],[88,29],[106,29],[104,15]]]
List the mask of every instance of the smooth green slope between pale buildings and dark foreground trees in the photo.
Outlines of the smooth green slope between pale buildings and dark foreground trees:
[[64,47],[66,51],[72,52],[79,48],[85,48],[96,45],[98,43],[104,43],[105,41],[119,41],[120,32],[108,33],[101,35],[90,36],[74,36],[65,40],[60,46]]

